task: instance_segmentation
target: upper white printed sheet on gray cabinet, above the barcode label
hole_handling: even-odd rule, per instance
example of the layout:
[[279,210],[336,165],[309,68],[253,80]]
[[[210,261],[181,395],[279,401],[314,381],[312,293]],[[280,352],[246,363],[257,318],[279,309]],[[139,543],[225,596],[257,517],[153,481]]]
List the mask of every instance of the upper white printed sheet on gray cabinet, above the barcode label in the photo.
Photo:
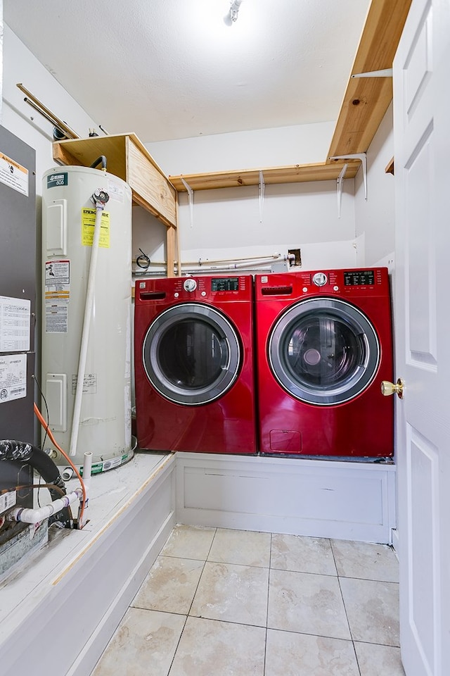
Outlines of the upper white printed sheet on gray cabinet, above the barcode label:
[[30,349],[31,301],[0,296],[0,352]]

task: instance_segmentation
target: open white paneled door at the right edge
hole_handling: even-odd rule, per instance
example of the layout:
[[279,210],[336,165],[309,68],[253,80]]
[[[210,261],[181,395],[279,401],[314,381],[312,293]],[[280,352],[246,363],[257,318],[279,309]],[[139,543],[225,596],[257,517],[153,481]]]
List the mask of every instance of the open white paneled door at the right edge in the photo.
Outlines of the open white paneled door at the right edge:
[[413,0],[394,61],[401,655],[450,674],[450,2]]

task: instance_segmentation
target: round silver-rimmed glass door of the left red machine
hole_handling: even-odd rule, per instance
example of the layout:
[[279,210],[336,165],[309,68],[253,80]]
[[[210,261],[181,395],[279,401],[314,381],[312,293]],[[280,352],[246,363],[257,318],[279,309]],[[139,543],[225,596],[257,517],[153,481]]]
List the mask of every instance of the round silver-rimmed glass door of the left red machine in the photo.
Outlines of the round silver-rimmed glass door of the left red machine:
[[241,349],[229,320],[215,308],[184,303],[158,315],[143,342],[150,383],[169,401],[200,406],[238,377]]

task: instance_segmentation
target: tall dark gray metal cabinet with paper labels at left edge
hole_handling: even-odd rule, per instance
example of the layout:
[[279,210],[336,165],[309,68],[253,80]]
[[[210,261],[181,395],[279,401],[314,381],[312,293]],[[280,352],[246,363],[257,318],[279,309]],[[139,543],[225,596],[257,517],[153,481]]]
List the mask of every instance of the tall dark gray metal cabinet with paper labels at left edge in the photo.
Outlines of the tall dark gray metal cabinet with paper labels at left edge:
[[[0,439],[34,444],[35,152],[0,127]],[[32,468],[0,461],[0,524],[15,500],[32,507]],[[27,488],[10,491],[16,486]],[[6,492],[8,491],[8,492]],[[5,522],[0,549],[27,525]]]

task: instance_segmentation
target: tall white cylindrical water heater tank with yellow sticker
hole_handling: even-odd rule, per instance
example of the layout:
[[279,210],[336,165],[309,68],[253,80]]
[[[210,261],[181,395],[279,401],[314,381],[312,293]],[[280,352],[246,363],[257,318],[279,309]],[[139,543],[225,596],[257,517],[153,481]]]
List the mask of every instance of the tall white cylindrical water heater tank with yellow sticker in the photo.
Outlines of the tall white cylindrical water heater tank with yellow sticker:
[[[91,451],[93,474],[117,467],[133,456],[131,189],[122,179],[94,168],[64,166],[44,174],[42,389],[49,427],[68,454],[96,223],[91,196],[99,190],[109,199],[101,215],[77,444],[72,458],[80,467],[84,452]],[[44,449],[56,464],[67,467],[49,437],[44,434],[43,439]]]

